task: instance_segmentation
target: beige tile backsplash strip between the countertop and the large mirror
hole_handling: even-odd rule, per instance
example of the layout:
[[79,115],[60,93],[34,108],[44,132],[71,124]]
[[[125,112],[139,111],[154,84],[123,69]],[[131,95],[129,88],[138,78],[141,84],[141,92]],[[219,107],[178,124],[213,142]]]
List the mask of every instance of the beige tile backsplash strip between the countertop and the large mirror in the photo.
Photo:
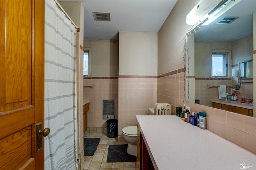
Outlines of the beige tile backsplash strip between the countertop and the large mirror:
[[206,129],[256,154],[256,119],[208,106],[186,103],[191,111],[206,113]]

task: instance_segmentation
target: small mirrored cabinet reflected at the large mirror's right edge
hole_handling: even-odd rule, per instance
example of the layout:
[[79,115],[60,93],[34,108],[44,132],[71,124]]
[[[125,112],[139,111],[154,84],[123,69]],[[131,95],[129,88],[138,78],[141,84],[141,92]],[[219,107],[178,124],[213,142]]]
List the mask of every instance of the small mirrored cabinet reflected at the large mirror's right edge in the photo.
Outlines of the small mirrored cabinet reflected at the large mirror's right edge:
[[247,61],[238,64],[238,81],[253,82],[253,62]]

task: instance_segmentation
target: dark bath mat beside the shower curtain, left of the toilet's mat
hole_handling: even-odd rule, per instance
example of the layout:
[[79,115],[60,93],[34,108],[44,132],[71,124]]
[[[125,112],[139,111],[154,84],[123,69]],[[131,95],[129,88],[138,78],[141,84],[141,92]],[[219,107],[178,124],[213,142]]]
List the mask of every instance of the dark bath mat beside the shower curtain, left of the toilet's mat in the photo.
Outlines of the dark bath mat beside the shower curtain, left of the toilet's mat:
[[84,138],[84,156],[93,156],[99,143],[100,138]]

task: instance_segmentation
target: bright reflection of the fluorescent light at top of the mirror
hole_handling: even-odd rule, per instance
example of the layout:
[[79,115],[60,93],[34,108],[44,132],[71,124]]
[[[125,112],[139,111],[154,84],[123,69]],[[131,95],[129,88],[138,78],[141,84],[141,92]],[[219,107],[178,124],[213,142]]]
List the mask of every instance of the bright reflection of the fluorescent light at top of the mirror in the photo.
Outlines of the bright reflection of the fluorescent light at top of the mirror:
[[241,0],[227,0],[226,2],[221,2],[213,10],[208,12],[208,20],[205,21],[202,25],[209,25],[240,1]]

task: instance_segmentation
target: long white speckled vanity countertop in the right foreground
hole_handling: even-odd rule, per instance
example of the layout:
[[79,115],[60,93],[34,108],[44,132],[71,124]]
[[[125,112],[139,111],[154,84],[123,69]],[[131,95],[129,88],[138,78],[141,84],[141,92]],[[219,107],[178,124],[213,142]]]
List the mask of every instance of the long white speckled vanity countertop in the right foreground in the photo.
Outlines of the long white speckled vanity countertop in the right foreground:
[[136,115],[155,169],[235,170],[256,155],[176,115]]

